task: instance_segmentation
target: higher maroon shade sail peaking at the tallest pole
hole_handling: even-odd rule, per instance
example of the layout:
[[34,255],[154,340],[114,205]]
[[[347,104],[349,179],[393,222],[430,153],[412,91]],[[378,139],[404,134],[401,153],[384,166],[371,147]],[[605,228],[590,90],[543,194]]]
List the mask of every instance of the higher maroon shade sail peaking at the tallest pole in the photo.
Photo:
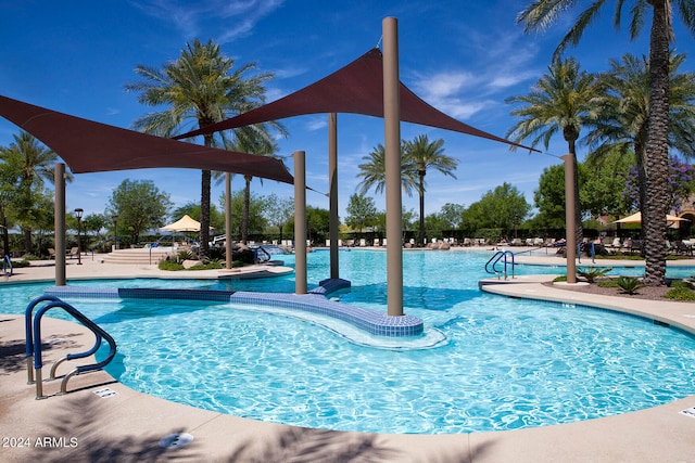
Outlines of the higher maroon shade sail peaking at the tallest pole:
[[[430,106],[401,82],[401,120],[533,150],[478,130]],[[352,113],[383,117],[383,60],[371,49],[345,67],[308,87],[248,113],[175,137],[176,140],[219,130],[320,113]]]

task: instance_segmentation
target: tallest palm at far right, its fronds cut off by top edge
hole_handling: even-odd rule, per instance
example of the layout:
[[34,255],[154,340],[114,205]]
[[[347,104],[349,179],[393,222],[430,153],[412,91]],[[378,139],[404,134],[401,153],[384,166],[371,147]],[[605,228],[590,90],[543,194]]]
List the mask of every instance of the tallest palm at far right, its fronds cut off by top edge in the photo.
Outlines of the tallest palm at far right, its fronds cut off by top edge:
[[[563,14],[571,10],[576,0],[535,0],[522,10],[517,22],[522,23],[525,31],[543,31]],[[568,44],[577,44],[584,30],[595,20],[606,0],[593,0],[582,11],[574,25],[563,38],[555,53],[559,55]],[[645,189],[646,203],[642,205],[643,229],[645,233],[645,278],[649,285],[666,284],[666,221],[668,195],[668,130],[669,130],[669,44],[674,39],[672,16],[678,10],[681,20],[695,34],[695,0],[619,0],[615,21],[620,24],[622,9],[630,8],[630,38],[636,38],[644,26],[644,18],[652,10],[652,30],[649,35],[649,117],[645,144]]]

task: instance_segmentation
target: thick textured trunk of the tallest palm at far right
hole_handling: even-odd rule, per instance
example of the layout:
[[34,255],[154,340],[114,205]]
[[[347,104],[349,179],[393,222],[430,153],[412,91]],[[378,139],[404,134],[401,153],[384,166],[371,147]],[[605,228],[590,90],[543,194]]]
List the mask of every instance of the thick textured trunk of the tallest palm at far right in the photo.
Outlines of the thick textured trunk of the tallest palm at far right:
[[652,286],[666,284],[666,214],[668,213],[669,125],[669,14],[667,2],[650,2],[654,9],[649,37],[649,118],[644,164],[646,204],[642,206],[645,276]]

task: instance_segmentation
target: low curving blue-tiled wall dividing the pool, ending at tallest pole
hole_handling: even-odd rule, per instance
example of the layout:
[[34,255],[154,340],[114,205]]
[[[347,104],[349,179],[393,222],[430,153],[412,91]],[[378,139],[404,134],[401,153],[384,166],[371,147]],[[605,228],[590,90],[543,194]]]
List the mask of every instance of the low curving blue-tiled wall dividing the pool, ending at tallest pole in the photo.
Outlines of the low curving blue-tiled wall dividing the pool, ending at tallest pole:
[[218,303],[249,304],[281,307],[318,313],[342,320],[369,334],[388,337],[417,336],[425,331],[417,317],[391,317],[382,312],[363,309],[329,300],[321,294],[251,293],[205,290],[109,288],[86,286],[53,286],[45,294],[55,297],[111,298],[111,299],[188,299]]

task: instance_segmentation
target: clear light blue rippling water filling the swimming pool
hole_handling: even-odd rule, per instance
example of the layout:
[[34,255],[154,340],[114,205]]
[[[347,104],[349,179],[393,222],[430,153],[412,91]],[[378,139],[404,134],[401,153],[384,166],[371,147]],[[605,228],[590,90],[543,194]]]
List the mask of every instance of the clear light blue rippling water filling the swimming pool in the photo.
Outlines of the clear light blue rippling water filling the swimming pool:
[[[70,300],[110,332],[110,372],[159,397],[238,416],[381,433],[471,433],[568,423],[695,394],[695,337],[648,321],[478,290],[489,254],[404,254],[405,312],[446,336],[420,350],[354,344],[319,320],[229,304]],[[292,263],[292,256],[283,256]],[[341,253],[341,301],[386,311],[384,253]],[[561,273],[519,268],[518,272]],[[328,253],[308,255],[311,285]],[[124,282],[75,282],[90,286]],[[128,286],[293,291],[293,278],[135,280]],[[0,290],[21,313],[46,285]],[[273,310],[273,309],[270,309]],[[58,311],[56,311],[58,312]]]

